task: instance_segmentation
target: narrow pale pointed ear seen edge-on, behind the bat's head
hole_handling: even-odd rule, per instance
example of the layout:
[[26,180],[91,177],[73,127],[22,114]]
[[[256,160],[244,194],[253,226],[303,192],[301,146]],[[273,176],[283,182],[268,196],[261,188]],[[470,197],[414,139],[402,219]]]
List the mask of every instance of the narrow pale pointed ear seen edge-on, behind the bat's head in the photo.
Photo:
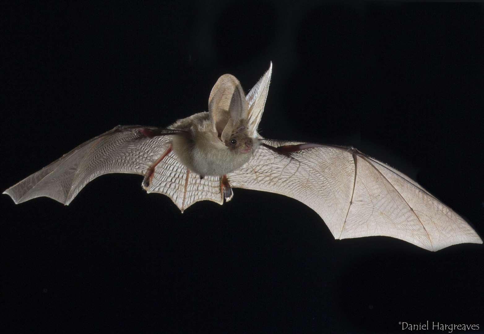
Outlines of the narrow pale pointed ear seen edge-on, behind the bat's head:
[[252,87],[245,99],[249,103],[249,117],[248,129],[249,135],[255,137],[257,134],[257,127],[259,126],[260,118],[264,112],[266,104],[267,93],[269,92],[269,84],[271,83],[272,75],[272,61],[269,65],[269,70],[257,81],[257,84]]

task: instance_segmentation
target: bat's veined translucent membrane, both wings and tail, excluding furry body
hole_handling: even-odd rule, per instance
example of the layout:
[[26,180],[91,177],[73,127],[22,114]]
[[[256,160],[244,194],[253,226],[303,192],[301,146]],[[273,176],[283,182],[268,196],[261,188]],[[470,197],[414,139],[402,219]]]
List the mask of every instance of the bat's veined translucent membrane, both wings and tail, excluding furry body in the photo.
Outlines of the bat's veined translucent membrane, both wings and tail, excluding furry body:
[[[5,190],[15,203],[39,196],[69,204],[95,177],[144,175],[171,144],[173,130],[116,127]],[[153,136],[151,136],[153,134]],[[416,182],[382,162],[344,147],[263,140],[252,160],[227,174],[233,188],[274,192],[315,210],[336,239],[386,235],[428,250],[482,243],[469,224]],[[173,152],[156,165],[148,192],[172,199],[181,211],[198,201],[224,203],[221,177],[191,173]]]

